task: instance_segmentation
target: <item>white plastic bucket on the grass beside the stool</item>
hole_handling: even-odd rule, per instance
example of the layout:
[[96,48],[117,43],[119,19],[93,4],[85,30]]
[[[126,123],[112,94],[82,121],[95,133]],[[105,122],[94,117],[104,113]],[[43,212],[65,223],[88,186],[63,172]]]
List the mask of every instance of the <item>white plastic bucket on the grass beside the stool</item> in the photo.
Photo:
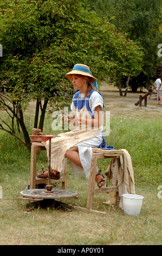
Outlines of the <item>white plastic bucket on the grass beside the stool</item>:
[[128,215],[139,215],[144,197],[138,194],[123,194],[124,213]]

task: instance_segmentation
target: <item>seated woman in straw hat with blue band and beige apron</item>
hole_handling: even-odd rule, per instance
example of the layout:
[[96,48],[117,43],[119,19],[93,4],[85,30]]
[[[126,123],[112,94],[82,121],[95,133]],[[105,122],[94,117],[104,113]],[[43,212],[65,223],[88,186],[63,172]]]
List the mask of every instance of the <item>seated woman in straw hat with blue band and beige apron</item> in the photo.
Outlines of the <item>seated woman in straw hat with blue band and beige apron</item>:
[[[92,76],[88,66],[74,65],[66,77],[72,81],[75,89],[79,90],[73,96],[71,110],[75,113],[72,117],[63,115],[64,123],[76,126],[76,129],[60,133],[60,137],[51,139],[51,179],[59,179],[64,169],[64,159],[67,157],[74,169],[83,169],[89,179],[92,148],[102,144],[103,127],[103,98],[97,86],[92,83],[96,78]],[[49,142],[44,143],[49,149]],[[48,177],[48,171],[38,172],[38,177]],[[106,183],[106,176],[100,171],[96,173],[96,182],[99,187]]]

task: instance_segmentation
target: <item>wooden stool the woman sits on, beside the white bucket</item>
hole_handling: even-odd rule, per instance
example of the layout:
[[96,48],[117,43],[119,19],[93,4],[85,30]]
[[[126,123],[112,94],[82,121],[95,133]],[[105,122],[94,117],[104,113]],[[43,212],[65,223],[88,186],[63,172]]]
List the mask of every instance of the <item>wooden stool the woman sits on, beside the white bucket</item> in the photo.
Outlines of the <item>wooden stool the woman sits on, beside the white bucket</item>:
[[[105,150],[100,148],[93,148],[92,161],[90,167],[90,176],[89,176],[89,187],[88,187],[88,197],[87,197],[87,210],[94,212],[92,210],[93,206],[93,196],[98,193],[109,193],[109,192],[117,192],[118,197],[118,186],[109,186],[109,187],[101,187],[95,188],[95,176],[96,176],[96,166],[98,159],[106,159],[106,158],[119,158],[122,156],[122,150]],[[112,175],[116,175],[113,173]],[[118,202],[118,198],[117,202]],[[116,203],[119,204],[119,203]]]

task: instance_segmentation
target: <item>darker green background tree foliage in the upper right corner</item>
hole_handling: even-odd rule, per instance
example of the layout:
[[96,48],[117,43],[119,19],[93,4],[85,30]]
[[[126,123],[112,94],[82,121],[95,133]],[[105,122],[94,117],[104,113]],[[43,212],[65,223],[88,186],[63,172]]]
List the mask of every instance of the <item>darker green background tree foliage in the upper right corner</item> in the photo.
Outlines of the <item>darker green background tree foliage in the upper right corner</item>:
[[[144,51],[144,63],[138,76],[131,76],[129,85],[133,92],[137,88],[148,87],[156,77],[158,44],[162,40],[161,4],[159,0],[87,0],[92,10],[115,25],[119,32],[139,42]],[[120,77],[122,87],[126,86],[127,77]],[[119,80],[118,80],[119,83]]]

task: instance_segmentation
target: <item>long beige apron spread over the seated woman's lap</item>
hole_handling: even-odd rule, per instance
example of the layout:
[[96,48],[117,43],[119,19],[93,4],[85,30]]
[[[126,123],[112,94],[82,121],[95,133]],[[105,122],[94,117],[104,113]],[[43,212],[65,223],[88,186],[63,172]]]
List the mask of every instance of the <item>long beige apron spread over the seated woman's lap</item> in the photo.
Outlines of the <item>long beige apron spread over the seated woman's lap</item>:
[[[82,109],[76,109],[76,115],[82,118],[89,118],[92,119],[90,116],[86,104]],[[57,170],[58,172],[62,172],[64,169],[63,160],[66,151],[77,143],[82,141],[87,141],[91,139],[103,130],[103,127],[100,126],[99,128],[93,127],[86,124],[79,124],[79,126],[70,132],[60,133],[60,137],[52,138],[51,139],[51,168]],[[49,153],[49,141],[43,142],[46,149],[47,149],[47,156]]]

